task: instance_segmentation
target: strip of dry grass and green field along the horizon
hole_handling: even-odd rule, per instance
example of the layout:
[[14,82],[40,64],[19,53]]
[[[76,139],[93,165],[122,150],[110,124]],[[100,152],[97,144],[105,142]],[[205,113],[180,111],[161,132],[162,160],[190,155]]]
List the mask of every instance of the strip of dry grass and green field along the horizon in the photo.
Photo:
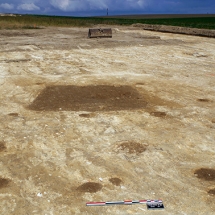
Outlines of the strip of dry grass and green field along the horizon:
[[91,27],[96,24],[131,25],[134,23],[172,25],[190,28],[215,29],[215,17],[191,18],[99,18],[99,17],[63,17],[63,16],[1,16],[0,29],[39,29],[42,26]]

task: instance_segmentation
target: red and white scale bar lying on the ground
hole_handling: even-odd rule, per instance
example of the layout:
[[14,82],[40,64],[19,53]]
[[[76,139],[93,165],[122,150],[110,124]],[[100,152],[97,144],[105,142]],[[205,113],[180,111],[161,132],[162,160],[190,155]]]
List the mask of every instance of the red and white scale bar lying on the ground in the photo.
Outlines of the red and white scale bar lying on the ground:
[[147,204],[147,203],[163,203],[162,200],[126,200],[118,202],[87,202],[86,206],[105,206],[105,205],[132,205],[132,204]]

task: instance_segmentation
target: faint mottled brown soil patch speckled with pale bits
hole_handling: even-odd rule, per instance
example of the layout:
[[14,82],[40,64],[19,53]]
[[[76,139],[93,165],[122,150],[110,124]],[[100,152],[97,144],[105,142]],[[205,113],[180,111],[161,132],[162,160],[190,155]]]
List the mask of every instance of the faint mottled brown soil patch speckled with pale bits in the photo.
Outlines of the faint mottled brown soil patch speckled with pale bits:
[[118,148],[129,154],[139,155],[146,150],[147,146],[137,142],[123,142]]

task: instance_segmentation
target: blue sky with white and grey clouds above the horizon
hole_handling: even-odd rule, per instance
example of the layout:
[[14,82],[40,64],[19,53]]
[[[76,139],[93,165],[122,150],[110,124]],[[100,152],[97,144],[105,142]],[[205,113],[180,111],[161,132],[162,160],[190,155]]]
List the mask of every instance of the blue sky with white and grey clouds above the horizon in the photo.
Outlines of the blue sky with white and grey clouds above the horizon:
[[215,13],[215,0],[0,0],[0,13],[93,16]]

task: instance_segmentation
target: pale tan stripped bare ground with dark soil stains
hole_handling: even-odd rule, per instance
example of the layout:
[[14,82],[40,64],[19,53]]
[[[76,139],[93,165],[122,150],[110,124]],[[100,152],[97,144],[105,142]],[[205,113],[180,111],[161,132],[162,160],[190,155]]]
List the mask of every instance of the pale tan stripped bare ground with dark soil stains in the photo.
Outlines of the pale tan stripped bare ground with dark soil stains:
[[0,214],[215,213],[215,40],[112,28],[0,31]]

